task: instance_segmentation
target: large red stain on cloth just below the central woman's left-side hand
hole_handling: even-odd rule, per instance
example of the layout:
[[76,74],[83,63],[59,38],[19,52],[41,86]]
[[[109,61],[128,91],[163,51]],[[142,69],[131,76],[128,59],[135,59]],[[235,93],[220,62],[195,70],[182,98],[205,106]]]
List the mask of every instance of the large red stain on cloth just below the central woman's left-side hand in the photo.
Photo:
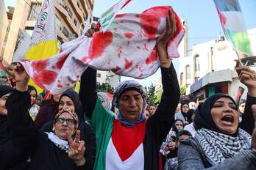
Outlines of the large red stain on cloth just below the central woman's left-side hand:
[[102,56],[105,48],[113,41],[113,34],[111,32],[98,32],[93,35],[93,40],[90,43],[89,57],[96,59]]

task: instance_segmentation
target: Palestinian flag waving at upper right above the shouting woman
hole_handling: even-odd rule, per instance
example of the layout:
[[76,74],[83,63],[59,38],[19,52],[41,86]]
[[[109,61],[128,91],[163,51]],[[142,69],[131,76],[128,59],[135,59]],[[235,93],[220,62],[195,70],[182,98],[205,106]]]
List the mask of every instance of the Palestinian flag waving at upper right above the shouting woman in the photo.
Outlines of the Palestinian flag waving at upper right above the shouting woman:
[[227,40],[234,48],[246,55],[251,54],[247,29],[238,0],[213,0]]

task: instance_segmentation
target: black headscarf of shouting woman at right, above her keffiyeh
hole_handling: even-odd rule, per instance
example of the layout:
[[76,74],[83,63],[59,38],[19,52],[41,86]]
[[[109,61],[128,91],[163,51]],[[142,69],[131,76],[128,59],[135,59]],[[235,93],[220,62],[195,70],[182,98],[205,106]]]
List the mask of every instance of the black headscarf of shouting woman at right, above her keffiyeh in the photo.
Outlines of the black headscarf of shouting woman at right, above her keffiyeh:
[[[216,102],[216,100],[218,100],[221,97],[230,98],[230,100],[232,100],[232,102],[235,104],[235,100],[233,100],[232,97],[230,97],[229,95],[215,94],[207,98],[207,100],[205,100],[205,102],[202,105],[199,105],[198,109],[196,109],[196,116],[194,120],[194,125],[196,130],[201,128],[206,128],[206,129],[214,130],[218,133],[224,133],[218,129],[211,115],[211,109],[213,108],[213,104]],[[237,107],[236,107],[236,110],[238,110]],[[234,136],[236,136],[236,134],[237,132],[234,134]],[[227,135],[230,135],[230,134],[227,134]]]

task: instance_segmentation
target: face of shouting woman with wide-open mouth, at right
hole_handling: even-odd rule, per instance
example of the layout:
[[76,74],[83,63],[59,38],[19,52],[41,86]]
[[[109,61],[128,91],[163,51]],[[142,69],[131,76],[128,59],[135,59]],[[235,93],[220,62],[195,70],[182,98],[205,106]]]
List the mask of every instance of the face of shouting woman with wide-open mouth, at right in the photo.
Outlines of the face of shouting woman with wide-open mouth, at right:
[[230,98],[221,97],[211,109],[213,122],[219,130],[227,134],[234,134],[238,128],[238,111]]

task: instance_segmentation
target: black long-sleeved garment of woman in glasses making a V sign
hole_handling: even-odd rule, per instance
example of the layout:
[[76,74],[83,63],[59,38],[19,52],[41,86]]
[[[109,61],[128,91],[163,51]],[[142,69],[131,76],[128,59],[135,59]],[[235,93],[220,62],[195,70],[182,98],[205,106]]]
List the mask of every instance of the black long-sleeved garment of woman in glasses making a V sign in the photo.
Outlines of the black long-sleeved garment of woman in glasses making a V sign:
[[[15,90],[7,99],[8,125],[10,127],[13,145],[24,149],[31,158],[29,169],[85,169],[84,166],[76,166],[74,161],[68,158],[68,154],[55,146],[47,134],[38,130],[29,116],[28,108],[30,96],[28,92]],[[86,158],[85,158],[86,159]]]

